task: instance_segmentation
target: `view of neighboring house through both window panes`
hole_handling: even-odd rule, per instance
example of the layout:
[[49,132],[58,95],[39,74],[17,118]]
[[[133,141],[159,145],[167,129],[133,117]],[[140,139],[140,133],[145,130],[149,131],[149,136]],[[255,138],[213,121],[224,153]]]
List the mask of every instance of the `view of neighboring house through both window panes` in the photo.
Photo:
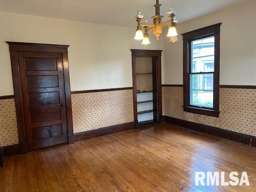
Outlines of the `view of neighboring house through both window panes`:
[[190,105],[213,108],[214,36],[191,41]]

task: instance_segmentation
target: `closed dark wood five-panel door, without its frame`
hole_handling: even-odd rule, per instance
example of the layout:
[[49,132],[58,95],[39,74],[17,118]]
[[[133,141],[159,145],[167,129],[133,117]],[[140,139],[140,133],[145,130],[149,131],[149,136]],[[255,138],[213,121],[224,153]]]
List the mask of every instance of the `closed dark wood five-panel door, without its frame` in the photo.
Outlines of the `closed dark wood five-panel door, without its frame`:
[[28,150],[68,141],[61,53],[18,52]]

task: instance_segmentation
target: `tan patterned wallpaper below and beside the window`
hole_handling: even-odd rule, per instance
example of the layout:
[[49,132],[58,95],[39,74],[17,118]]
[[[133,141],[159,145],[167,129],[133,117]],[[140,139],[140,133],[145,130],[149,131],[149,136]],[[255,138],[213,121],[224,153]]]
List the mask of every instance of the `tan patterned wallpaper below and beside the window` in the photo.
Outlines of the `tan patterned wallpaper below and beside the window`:
[[220,88],[220,118],[183,111],[183,87],[162,87],[163,115],[256,136],[256,89]]

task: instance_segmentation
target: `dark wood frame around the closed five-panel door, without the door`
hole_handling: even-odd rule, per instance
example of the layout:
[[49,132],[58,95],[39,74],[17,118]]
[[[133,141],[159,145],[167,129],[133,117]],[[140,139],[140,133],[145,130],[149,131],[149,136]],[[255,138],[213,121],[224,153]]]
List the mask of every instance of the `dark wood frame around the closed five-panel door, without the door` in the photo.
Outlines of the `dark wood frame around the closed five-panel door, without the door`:
[[67,131],[68,143],[74,143],[73,120],[72,120],[72,104],[70,94],[70,79],[68,69],[68,47],[66,45],[53,45],[53,44],[35,44],[35,43],[22,43],[22,42],[7,42],[10,49],[11,65],[12,65],[12,79],[14,87],[15,107],[18,124],[18,136],[20,153],[25,154],[28,152],[28,144],[26,140],[26,127],[24,120],[23,101],[20,84],[20,72],[18,64],[18,52],[47,52],[47,53],[61,53],[63,61],[64,73],[64,87],[66,99],[66,115],[67,115]]

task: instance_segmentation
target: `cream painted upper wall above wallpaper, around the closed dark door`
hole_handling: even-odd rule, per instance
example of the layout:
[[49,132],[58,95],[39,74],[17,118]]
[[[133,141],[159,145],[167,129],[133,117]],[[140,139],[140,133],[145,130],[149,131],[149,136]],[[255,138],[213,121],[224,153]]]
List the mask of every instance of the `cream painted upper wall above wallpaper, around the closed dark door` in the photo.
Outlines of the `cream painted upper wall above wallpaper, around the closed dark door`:
[[134,40],[134,28],[107,26],[0,12],[0,96],[13,95],[6,41],[70,45],[71,91],[132,87],[130,49],[163,49],[150,34],[150,45]]

